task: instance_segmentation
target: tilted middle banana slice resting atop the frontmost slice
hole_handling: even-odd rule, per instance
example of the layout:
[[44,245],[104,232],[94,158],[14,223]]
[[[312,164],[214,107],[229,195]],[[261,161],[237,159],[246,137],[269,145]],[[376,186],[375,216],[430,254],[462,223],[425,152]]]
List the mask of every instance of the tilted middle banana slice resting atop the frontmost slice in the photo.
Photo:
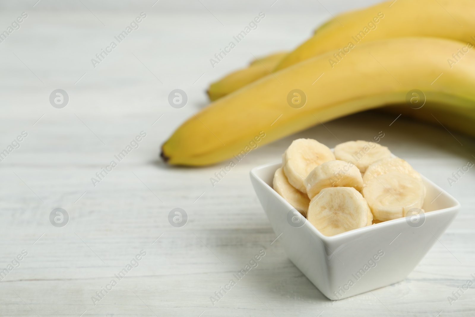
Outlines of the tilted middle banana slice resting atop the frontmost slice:
[[353,163],[335,160],[315,167],[305,178],[304,185],[308,198],[312,199],[327,187],[353,187],[359,192],[363,188],[363,179]]

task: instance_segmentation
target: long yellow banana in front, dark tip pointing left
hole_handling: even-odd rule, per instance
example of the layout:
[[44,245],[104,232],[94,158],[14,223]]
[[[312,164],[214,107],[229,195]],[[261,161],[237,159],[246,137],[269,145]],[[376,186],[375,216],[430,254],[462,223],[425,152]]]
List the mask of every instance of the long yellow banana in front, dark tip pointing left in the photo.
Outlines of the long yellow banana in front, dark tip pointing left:
[[[252,148],[334,118],[405,104],[412,89],[424,93],[424,111],[433,104],[444,105],[447,112],[472,118],[465,132],[475,136],[473,50],[473,45],[448,39],[392,38],[361,43],[333,68],[328,60],[336,51],[324,53],[266,76],[193,115],[162,145],[161,156],[181,165],[240,158]],[[453,54],[459,56],[456,61]],[[447,128],[460,129],[450,118],[437,119]]]

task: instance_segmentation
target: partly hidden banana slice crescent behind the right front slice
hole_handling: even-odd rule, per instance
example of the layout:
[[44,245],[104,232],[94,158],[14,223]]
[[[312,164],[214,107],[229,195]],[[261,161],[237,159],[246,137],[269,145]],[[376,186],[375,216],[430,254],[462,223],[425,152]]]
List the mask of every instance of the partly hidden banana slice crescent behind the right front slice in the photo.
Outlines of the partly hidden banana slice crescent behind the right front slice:
[[366,184],[376,176],[386,173],[402,173],[421,180],[420,174],[408,162],[399,157],[390,157],[372,163],[364,173],[363,183]]

